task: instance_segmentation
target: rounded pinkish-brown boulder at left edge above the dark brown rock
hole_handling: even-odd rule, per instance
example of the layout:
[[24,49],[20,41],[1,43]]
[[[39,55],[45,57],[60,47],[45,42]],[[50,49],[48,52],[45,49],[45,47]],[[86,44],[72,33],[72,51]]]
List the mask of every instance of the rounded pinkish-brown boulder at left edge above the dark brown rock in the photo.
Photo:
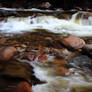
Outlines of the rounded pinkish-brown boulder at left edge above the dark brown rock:
[[0,51],[0,61],[9,61],[16,53],[17,50],[15,47],[6,47]]

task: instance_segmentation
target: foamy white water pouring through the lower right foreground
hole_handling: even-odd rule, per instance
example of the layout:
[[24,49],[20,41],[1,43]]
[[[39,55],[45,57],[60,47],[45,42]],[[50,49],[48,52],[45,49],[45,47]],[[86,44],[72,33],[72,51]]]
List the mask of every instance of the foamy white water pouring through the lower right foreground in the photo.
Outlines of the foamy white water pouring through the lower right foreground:
[[[45,84],[33,86],[33,92],[86,92],[85,90],[92,88],[92,82],[87,82],[83,76],[76,73],[68,77],[55,75],[53,67],[40,67],[31,64],[34,67],[34,75]],[[92,89],[91,89],[92,90]],[[90,91],[91,92],[91,91]]]

